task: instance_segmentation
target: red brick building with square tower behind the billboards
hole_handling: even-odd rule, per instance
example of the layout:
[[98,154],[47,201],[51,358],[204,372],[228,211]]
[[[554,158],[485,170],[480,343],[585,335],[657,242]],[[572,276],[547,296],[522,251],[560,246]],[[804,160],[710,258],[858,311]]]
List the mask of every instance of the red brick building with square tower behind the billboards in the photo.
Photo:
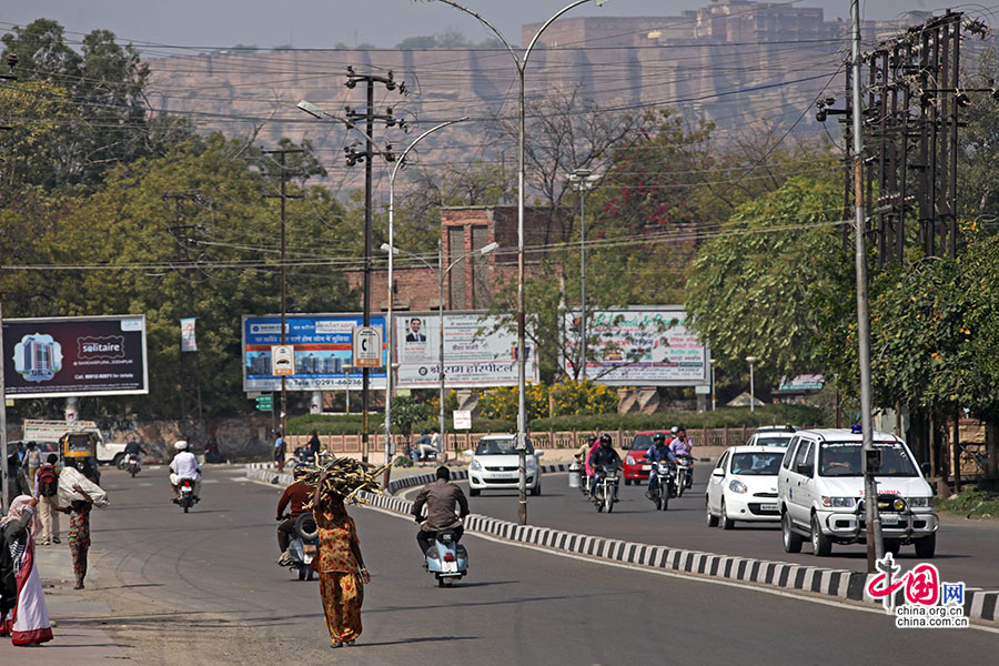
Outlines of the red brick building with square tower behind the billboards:
[[[572,213],[553,215],[549,209],[524,210],[526,271],[529,275],[555,243],[564,240]],[[457,261],[444,283],[445,310],[485,310],[503,285],[517,279],[517,206],[471,205],[441,210],[441,238],[444,266],[464,254],[474,253],[490,243],[498,250],[486,256],[473,255]],[[393,269],[395,294],[393,310],[425,311],[438,307],[436,271],[413,266],[400,258],[403,268]],[[431,263],[435,263],[431,261]],[[346,271],[347,283],[357,289],[364,280],[361,270]],[[376,269],[371,274],[372,303],[377,310],[389,309],[389,271]]]

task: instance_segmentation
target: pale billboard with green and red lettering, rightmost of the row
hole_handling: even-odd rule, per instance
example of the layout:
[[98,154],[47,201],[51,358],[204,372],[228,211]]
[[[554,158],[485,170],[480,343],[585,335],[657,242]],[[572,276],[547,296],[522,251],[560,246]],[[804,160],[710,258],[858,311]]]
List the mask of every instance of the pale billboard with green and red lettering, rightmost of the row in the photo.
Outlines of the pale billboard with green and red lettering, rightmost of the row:
[[[586,313],[586,377],[616,386],[710,384],[707,345],[686,329],[680,305],[648,305]],[[565,320],[563,367],[578,359],[579,313]],[[577,362],[577,361],[576,361]]]

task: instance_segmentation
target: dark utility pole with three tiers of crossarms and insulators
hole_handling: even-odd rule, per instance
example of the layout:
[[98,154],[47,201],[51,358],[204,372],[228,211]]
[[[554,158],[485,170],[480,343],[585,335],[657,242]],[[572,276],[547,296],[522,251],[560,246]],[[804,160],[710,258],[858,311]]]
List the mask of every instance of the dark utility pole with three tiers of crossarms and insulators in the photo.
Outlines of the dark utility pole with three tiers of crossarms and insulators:
[[[394,127],[398,125],[400,129],[405,128],[405,121],[396,119],[392,115],[392,109],[386,109],[385,113],[380,114],[375,113],[374,109],[374,87],[375,83],[382,83],[385,85],[386,90],[395,90],[398,89],[401,94],[406,94],[406,88],[404,83],[396,83],[395,79],[392,75],[392,71],[389,72],[386,77],[381,77],[376,74],[359,74],[354,71],[353,67],[347,67],[347,80],[344,85],[350,89],[353,89],[357,85],[357,82],[365,83],[365,88],[367,90],[367,101],[365,105],[365,112],[359,113],[350,107],[346,108],[346,120],[349,124],[354,124],[355,121],[364,121],[365,123],[365,132],[364,132],[364,152],[357,152],[353,148],[345,148],[344,152],[346,153],[347,165],[352,167],[357,161],[364,162],[364,282],[363,282],[363,324],[365,327],[371,325],[371,195],[372,195],[372,162],[374,161],[374,155],[380,154],[385,158],[389,162],[395,161],[395,155],[392,152],[392,145],[386,144],[384,151],[376,151],[373,142],[373,132],[374,132],[374,123],[376,120],[382,120],[385,122],[385,127]],[[387,369],[387,372],[392,372],[392,369]],[[367,416],[369,416],[369,405],[370,405],[370,389],[371,389],[371,370],[367,366],[364,366],[361,371],[361,460],[362,462],[367,462],[369,455],[369,436],[367,436]]]

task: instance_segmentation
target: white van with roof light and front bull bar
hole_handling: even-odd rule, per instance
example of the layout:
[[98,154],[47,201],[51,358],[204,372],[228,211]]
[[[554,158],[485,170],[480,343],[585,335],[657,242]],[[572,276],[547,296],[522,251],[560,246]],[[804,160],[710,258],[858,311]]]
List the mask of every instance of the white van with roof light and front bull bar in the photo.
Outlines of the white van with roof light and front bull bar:
[[[875,481],[885,551],[898,554],[904,544],[915,544],[916,555],[928,559],[939,526],[932,488],[905,442],[885,433],[874,433],[872,440],[881,451]],[[800,552],[805,538],[819,556],[828,555],[834,543],[866,542],[861,445],[862,435],[849,430],[795,433],[777,475],[786,552]]]

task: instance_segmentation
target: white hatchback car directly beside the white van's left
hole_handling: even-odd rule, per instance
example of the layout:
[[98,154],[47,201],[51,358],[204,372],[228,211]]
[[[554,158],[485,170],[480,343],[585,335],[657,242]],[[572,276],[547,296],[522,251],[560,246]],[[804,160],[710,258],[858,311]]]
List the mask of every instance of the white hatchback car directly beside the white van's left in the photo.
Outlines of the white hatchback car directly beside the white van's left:
[[709,527],[731,529],[736,521],[780,519],[777,506],[777,473],[784,448],[731,446],[718,458],[708,478],[705,513]]

